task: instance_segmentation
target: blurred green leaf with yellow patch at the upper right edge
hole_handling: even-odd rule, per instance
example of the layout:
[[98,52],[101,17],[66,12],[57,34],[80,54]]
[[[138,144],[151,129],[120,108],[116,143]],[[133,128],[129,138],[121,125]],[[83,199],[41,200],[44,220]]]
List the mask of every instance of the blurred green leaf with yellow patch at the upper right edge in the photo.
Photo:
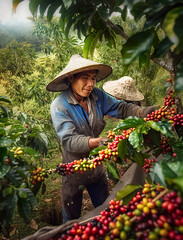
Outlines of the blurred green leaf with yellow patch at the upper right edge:
[[[163,23],[167,36],[176,45],[181,45],[183,42],[182,22],[180,23],[182,17],[183,7],[177,7],[167,13]],[[177,18],[179,18],[179,21],[176,22]]]

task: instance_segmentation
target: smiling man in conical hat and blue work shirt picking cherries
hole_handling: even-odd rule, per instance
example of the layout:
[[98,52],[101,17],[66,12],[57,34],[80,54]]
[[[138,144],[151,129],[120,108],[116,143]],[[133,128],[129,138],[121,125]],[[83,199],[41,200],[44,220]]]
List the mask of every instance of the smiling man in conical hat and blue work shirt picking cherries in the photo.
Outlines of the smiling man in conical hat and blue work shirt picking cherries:
[[[108,65],[73,55],[62,72],[47,85],[48,91],[63,91],[51,104],[52,121],[63,146],[63,163],[88,157],[91,149],[99,145],[105,115],[120,119],[145,117],[154,110],[154,107],[142,109],[118,101],[95,88],[96,82],[111,72]],[[62,177],[63,223],[80,217],[83,187],[94,207],[100,206],[109,195],[104,167]]]

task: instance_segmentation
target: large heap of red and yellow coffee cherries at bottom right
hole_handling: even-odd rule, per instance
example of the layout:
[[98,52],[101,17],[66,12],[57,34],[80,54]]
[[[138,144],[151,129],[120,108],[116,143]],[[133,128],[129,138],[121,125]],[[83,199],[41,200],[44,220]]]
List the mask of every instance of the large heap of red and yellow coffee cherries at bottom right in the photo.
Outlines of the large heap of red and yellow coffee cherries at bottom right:
[[74,223],[54,239],[182,240],[182,199],[176,191],[168,192],[161,186],[146,183],[127,205],[123,200],[112,199],[99,216]]

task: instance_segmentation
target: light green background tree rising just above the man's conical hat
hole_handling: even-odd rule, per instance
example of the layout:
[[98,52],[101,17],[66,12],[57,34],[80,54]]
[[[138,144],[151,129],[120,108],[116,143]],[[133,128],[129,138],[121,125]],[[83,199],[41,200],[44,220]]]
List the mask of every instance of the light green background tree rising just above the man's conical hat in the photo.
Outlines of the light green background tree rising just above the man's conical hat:
[[60,27],[58,18],[48,22],[45,18],[35,21],[34,35],[42,40],[42,49],[45,54],[55,56],[52,70],[54,74],[61,71],[73,54],[82,53],[82,43],[77,37],[65,36]]

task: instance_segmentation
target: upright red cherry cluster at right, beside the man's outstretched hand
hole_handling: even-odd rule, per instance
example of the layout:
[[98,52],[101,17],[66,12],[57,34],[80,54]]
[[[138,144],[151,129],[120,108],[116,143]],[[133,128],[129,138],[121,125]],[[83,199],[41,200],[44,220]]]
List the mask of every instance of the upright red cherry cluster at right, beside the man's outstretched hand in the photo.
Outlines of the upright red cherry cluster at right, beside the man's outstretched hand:
[[163,107],[159,108],[151,114],[147,114],[147,117],[144,118],[145,121],[153,120],[154,122],[161,121],[164,119],[171,119],[176,114],[175,98],[173,97],[173,91],[170,90],[167,93],[167,96],[164,97]]

